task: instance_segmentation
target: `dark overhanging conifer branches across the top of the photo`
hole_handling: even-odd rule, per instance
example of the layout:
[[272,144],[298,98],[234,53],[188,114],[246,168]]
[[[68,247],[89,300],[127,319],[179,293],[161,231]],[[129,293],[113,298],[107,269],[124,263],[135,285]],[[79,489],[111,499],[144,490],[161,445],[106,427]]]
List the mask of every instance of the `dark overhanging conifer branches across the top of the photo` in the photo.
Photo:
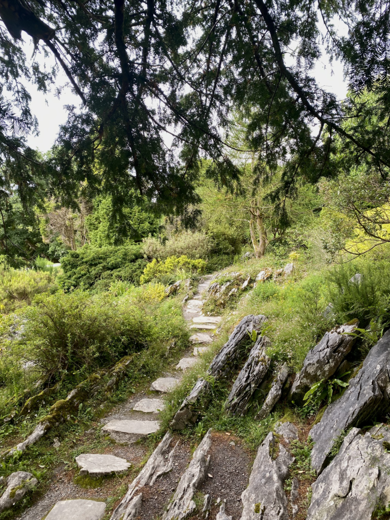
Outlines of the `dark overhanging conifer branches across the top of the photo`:
[[[231,110],[247,107],[256,178],[282,166],[275,199],[299,176],[332,175],[335,136],[347,163],[387,177],[389,7],[380,0],[0,0],[0,17],[4,211],[15,187],[26,207],[44,186],[66,204],[103,193],[119,209],[136,189],[159,211],[191,218],[200,157],[221,185],[238,178],[226,153]],[[23,32],[36,53],[54,55],[80,98],[47,158],[25,144],[36,120],[24,80],[45,92],[57,68],[25,56]],[[344,65],[343,102],[315,79],[321,51]]]

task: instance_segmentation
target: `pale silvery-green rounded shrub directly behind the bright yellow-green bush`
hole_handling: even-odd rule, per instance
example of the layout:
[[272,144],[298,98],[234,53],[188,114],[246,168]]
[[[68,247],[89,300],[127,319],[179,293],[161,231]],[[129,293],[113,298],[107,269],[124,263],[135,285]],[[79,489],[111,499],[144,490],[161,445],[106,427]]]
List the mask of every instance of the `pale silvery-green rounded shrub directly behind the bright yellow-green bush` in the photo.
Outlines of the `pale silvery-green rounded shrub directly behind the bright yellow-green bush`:
[[184,231],[173,235],[165,243],[157,238],[146,238],[142,250],[147,258],[165,260],[169,256],[186,255],[192,260],[209,257],[213,249],[212,240],[204,233]]

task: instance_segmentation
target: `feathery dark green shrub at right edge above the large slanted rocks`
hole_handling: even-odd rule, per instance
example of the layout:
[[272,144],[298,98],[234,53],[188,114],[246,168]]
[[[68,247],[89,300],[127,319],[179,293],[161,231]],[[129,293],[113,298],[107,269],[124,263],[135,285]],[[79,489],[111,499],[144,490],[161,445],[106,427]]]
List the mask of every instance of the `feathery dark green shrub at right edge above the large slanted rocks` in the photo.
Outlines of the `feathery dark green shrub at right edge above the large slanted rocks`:
[[[350,281],[356,274],[360,280]],[[329,274],[329,301],[340,321],[357,318],[360,327],[371,320],[390,320],[390,262],[360,262],[334,267]]]

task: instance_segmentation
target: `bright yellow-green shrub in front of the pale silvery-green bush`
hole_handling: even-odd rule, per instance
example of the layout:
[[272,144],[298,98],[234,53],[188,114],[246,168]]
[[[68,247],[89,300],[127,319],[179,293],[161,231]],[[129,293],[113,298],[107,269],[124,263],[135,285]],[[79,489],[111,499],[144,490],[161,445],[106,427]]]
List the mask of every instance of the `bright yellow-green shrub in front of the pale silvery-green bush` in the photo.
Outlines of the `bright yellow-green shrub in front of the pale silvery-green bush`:
[[154,258],[144,269],[144,274],[140,278],[140,283],[147,283],[151,280],[158,280],[164,275],[175,275],[175,278],[185,279],[193,274],[202,274],[206,269],[206,262],[199,258],[191,260],[186,255],[170,256],[164,262]]

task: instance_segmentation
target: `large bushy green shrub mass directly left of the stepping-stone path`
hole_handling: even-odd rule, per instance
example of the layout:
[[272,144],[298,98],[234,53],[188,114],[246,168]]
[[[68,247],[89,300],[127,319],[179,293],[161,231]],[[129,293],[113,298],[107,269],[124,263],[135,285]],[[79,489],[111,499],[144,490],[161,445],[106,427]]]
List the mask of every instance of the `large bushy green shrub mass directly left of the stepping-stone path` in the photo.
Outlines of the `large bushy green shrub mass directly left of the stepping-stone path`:
[[38,372],[35,380],[80,380],[125,355],[183,345],[188,335],[181,308],[172,300],[161,303],[160,292],[133,287],[122,297],[81,289],[36,296],[19,318],[19,339],[5,339],[3,330],[0,379],[8,381],[16,365],[27,363]]

